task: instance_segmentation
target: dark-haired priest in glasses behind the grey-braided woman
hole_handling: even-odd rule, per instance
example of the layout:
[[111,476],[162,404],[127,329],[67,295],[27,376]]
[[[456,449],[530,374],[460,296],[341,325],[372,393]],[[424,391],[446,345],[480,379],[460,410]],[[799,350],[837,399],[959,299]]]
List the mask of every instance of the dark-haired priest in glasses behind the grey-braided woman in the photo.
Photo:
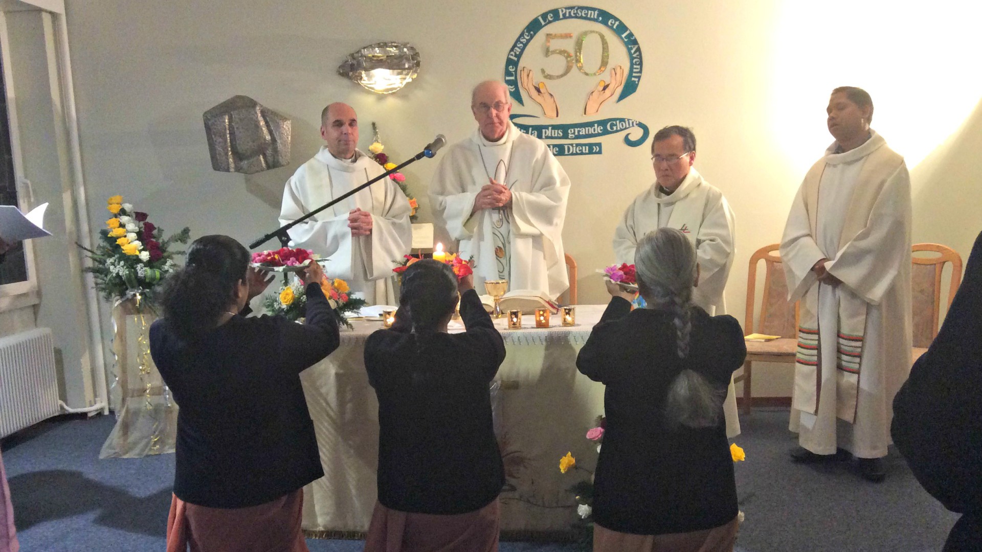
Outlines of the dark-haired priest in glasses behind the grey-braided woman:
[[[614,255],[618,263],[634,263],[637,243],[650,232],[670,227],[681,230],[695,248],[699,283],[692,303],[710,316],[726,314],[723,290],[734,261],[734,213],[717,188],[703,180],[692,166],[695,135],[674,125],[655,133],[651,140],[655,183],[627,206],[614,231]],[[736,392],[731,381],[723,410],[727,435],[739,434]]]

